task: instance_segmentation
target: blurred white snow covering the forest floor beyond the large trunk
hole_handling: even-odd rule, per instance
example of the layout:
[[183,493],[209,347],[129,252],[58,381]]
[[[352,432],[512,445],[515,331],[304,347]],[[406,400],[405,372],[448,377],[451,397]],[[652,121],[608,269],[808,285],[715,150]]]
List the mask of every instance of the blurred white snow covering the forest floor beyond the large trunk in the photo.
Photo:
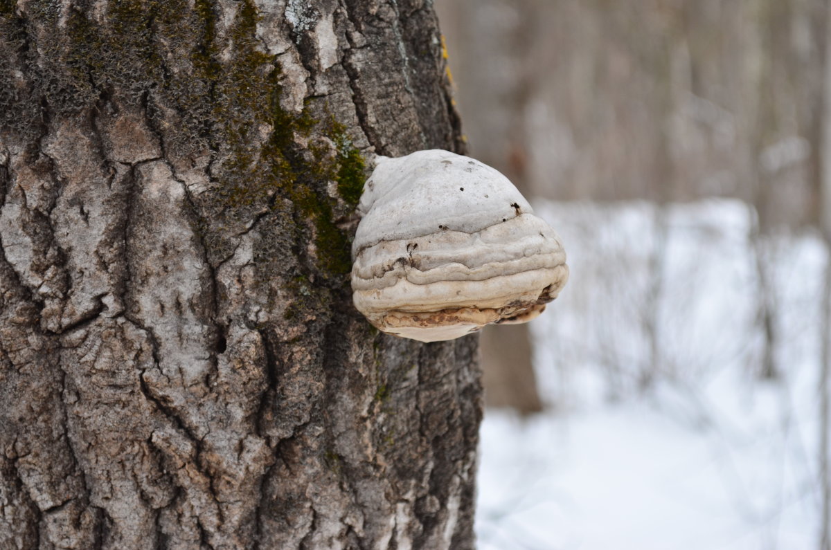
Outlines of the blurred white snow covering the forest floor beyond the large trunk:
[[531,324],[547,411],[486,411],[479,548],[818,548],[819,238],[754,240],[738,201],[535,209],[571,280]]

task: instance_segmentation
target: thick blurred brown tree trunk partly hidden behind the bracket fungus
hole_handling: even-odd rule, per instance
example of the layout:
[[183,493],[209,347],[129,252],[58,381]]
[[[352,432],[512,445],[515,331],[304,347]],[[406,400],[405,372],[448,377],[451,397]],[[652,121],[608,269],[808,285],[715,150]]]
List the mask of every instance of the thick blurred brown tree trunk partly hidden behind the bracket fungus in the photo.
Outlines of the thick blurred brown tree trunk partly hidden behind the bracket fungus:
[[[526,28],[543,10],[534,0],[474,3],[437,2],[450,60],[465,78],[470,99],[467,137],[475,157],[505,174],[530,196],[527,162],[531,139],[526,127],[529,91],[538,66],[530,56],[534,33]],[[464,43],[464,47],[462,47]],[[456,60],[457,53],[464,56]],[[469,64],[482,64],[478,69]],[[485,404],[520,414],[543,410],[533,366],[528,325],[485,327],[481,363]]]

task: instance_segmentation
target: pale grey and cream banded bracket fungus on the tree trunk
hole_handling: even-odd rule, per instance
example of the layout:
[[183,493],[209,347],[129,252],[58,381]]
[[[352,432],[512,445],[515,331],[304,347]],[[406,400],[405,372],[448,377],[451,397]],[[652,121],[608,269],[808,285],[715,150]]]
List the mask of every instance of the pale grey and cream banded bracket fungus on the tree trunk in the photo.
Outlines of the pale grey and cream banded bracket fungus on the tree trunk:
[[440,341],[528,322],[568,279],[557,233],[469,157],[378,156],[357,209],[352,297],[381,331]]

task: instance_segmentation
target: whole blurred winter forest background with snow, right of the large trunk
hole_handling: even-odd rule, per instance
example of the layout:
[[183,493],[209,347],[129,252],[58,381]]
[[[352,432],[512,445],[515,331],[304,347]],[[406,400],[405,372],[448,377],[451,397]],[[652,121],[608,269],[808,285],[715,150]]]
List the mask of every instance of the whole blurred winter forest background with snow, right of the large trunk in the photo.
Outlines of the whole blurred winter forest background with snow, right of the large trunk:
[[436,4],[572,270],[524,388],[484,341],[480,548],[829,548],[829,2]]

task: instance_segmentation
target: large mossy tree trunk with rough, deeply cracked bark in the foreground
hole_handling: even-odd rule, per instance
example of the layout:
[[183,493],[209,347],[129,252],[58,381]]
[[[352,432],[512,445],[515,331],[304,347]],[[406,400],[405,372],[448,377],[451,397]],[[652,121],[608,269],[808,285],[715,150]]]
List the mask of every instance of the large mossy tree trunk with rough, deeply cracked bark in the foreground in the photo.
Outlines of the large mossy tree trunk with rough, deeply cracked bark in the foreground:
[[0,0],[0,548],[472,548],[475,337],[354,311],[425,0]]

